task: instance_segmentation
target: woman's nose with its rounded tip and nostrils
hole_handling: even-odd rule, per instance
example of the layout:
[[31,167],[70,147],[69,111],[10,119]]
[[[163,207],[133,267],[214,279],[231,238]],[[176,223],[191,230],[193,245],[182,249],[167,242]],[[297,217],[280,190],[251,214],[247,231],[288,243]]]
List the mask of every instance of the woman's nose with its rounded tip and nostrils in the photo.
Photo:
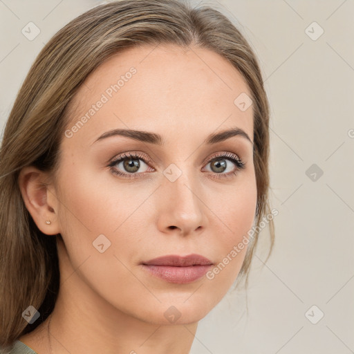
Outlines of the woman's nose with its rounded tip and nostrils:
[[206,227],[205,204],[196,178],[183,172],[174,182],[162,178],[158,196],[158,230],[165,234],[187,236]]

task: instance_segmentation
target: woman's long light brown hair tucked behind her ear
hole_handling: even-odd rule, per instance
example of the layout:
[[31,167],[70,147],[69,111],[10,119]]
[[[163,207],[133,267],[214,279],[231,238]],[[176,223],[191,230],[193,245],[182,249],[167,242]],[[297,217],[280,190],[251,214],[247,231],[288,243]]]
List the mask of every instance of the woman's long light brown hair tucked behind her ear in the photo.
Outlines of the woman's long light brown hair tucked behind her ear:
[[[96,6],[44,46],[6,123],[0,151],[0,346],[10,346],[43,322],[59,290],[57,238],[43,234],[32,220],[19,189],[19,171],[32,165],[55,176],[66,108],[77,88],[109,57],[143,44],[208,48],[243,75],[254,109],[255,225],[270,211],[268,100],[257,58],[239,30],[218,10],[192,8],[179,0],[122,0]],[[269,225],[271,252],[272,220]],[[258,234],[257,230],[238,277],[247,275],[246,286]],[[30,305],[41,314],[34,324],[21,316]]]

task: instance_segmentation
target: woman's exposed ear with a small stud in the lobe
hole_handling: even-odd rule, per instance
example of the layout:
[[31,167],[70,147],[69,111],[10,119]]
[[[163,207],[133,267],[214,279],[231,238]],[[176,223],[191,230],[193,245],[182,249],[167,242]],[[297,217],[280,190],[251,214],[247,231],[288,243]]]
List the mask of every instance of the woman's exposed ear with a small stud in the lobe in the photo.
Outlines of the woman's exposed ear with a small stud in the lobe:
[[55,210],[58,210],[58,201],[55,189],[48,180],[46,172],[26,166],[19,173],[18,183],[26,208],[39,230],[44,234],[54,235],[60,232],[55,214]]

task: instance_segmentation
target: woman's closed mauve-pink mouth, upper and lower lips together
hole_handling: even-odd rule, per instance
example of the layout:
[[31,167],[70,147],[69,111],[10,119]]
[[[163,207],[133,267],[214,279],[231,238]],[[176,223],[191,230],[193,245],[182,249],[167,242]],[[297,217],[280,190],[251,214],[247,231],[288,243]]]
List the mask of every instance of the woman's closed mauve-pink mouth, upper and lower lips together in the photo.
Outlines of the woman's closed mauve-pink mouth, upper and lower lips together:
[[142,268],[169,283],[182,284],[201,279],[212,265],[212,261],[200,254],[184,257],[170,254],[143,262]]

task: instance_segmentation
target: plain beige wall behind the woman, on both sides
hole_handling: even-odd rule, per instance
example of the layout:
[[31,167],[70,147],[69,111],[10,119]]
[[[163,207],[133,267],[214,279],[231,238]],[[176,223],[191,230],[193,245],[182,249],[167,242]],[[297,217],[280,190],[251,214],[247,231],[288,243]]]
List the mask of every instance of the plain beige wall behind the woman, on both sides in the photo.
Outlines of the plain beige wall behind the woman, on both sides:
[[[279,215],[266,265],[262,233],[248,314],[245,292],[230,292],[200,322],[191,353],[353,353],[354,2],[204,2],[230,17],[259,56]],[[97,3],[0,1],[1,128],[44,43]],[[21,33],[30,21],[41,31],[32,41]]]

